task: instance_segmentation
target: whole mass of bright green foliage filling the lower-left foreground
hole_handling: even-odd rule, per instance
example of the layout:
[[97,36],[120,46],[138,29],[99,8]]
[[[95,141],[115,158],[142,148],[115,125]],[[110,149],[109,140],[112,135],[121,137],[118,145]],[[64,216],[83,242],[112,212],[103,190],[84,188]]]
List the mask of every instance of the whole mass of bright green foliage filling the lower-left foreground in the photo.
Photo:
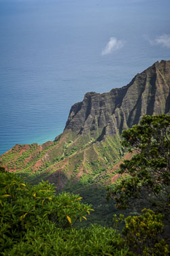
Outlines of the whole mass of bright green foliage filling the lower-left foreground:
[[47,182],[30,186],[1,168],[1,255],[133,255],[112,228],[75,229],[92,209],[78,195],[54,191]]

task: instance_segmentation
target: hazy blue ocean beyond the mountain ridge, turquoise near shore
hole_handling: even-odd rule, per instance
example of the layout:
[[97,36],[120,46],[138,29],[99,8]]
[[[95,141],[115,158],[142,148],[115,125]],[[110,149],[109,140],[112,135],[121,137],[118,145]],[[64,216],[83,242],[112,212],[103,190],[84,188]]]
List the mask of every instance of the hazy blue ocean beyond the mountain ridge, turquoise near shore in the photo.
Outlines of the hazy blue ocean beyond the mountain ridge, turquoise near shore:
[[[169,60],[169,11],[169,0],[0,0],[0,154],[54,140],[85,93]],[[112,37],[122,46],[102,55]]]

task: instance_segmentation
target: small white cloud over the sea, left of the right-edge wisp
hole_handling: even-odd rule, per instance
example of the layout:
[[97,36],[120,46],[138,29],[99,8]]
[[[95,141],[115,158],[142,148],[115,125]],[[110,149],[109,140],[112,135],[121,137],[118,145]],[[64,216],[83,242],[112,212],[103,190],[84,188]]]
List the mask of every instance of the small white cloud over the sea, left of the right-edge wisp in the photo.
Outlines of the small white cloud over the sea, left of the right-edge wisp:
[[101,52],[101,55],[111,54],[115,50],[119,50],[124,46],[124,41],[116,39],[116,37],[111,37],[109,42],[105,46],[104,50]]

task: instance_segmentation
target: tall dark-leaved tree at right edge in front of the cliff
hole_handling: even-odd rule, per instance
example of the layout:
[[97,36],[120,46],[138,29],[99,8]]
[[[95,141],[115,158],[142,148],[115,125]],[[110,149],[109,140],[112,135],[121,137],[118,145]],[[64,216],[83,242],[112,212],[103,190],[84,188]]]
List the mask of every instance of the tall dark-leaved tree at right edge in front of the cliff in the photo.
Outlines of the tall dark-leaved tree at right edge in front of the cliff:
[[108,188],[118,208],[126,208],[131,199],[143,199],[163,213],[170,204],[170,116],[144,116],[140,125],[124,130],[123,144],[137,152],[120,165],[120,174],[129,174],[118,185]]

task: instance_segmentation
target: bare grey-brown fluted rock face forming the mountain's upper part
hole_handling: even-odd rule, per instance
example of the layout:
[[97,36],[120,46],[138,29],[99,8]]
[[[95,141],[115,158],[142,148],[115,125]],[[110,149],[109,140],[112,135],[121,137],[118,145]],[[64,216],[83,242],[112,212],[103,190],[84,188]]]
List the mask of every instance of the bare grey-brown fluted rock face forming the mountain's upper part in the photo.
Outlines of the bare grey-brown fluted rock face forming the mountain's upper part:
[[92,137],[122,133],[139,123],[144,114],[168,113],[169,91],[170,61],[157,61],[122,88],[86,93],[82,102],[72,106],[65,131],[90,133]]

